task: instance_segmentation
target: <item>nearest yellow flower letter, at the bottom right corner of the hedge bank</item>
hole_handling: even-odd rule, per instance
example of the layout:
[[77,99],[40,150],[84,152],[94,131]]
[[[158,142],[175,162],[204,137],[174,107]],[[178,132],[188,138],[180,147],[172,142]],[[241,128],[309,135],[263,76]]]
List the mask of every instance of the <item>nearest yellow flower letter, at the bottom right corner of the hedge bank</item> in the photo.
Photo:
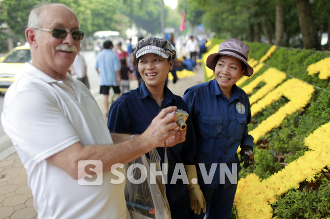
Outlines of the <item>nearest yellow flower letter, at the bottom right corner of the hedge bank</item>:
[[330,166],[330,122],[309,135],[305,144],[311,151],[268,179],[261,181],[252,173],[239,181],[234,201],[238,218],[272,218],[271,204],[276,202],[277,196],[298,188],[300,182]]

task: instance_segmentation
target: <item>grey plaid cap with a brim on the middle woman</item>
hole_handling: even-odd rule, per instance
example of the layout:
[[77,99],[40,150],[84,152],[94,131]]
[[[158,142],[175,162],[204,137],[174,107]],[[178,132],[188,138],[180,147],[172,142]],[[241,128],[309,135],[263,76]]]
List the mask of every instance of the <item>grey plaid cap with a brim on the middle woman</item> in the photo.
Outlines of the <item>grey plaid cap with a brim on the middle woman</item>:
[[157,54],[165,59],[170,57],[174,59],[177,51],[172,43],[167,39],[158,38],[156,36],[148,36],[138,42],[137,47],[134,50],[133,57],[137,59],[148,53]]

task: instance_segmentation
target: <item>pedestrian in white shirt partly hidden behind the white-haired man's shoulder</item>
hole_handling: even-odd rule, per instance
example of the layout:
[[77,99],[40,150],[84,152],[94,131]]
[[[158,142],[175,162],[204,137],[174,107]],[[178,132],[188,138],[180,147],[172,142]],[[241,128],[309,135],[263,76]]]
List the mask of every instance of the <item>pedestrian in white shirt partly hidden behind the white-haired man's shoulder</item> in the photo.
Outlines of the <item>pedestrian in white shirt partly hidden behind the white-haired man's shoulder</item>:
[[77,80],[83,82],[85,86],[89,89],[87,65],[84,59],[84,55],[80,50],[81,49],[79,49],[75,61],[71,65],[71,75],[73,75],[73,77],[76,77]]

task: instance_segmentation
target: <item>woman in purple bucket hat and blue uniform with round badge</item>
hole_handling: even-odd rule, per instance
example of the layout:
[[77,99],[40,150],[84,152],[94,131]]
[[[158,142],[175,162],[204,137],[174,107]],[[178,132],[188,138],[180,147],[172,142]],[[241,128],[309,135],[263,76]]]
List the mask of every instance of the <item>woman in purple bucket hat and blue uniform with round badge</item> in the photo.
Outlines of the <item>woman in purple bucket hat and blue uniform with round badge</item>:
[[[253,137],[247,128],[251,121],[250,102],[235,84],[242,75],[253,74],[247,63],[248,53],[249,47],[242,41],[225,40],[218,53],[206,61],[215,78],[190,87],[183,96],[195,129],[197,162],[203,164],[197,168],[197,176],[206,200],[207,219],[229,218],[237,189],[237,178],[233,176],[238,177],[240,161],[244,161],[243,169],[253,163]],[[239,146],[241,160],[237,155]],[[227,165],[230,177],[220,164]],[[204,214],[192,218],[203,219]]]

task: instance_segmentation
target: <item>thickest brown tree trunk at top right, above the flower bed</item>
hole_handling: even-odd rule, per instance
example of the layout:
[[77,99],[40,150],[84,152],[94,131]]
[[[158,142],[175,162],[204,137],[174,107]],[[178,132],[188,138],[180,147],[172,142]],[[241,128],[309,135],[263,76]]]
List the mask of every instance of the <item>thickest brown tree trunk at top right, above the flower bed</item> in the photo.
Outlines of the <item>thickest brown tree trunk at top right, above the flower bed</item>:
[[314,17],[309,5],[309,0],[295,0],[298,9],[300,31],[303,34],[305,49],[320,50]]

